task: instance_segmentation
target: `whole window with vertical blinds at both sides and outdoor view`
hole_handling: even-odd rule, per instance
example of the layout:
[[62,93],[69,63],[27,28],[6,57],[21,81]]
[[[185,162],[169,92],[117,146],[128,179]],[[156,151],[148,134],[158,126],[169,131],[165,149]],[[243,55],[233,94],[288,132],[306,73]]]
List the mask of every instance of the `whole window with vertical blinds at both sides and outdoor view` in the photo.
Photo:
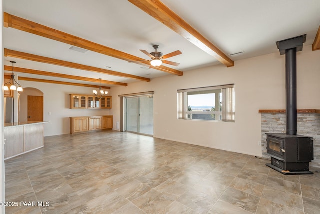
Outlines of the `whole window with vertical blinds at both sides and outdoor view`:
[[234,84],[177,92],[178,119],[234,121]]

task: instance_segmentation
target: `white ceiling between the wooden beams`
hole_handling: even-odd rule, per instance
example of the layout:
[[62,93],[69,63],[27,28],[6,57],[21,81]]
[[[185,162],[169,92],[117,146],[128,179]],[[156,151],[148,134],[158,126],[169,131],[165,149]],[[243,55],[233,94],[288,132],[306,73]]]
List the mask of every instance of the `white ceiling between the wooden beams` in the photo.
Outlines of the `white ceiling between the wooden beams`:
[[[319,0],[162,2],[226,55],[244,51],[229,56],[235,61],[235,66],[236,60],[277,52],[275,42],[279,40],[307,34],[304,45],[311,45],[320,25]],[[180,50],[181,55],[168,59],[180,65],[165,66],[183,72],[220,64],[214,57],[126,0],[3,0],[3,10],[143,59],[149,58],[139,49],[152,52],[153,44],[158,44],[158,51],[163,54]],[[7,49],[147,77],[151,78],[151,82],[154,77],[172,75],[93,51],[72,51],[69,50],[69,44],[14,28],[3,28],[3,43]],[[13,57],[5,57],[4,64],[12,65],[10,60],[16,61],[16,67],[124,83],[136,81]],[[19,76],[92,84],[26,73],[19,73]]]

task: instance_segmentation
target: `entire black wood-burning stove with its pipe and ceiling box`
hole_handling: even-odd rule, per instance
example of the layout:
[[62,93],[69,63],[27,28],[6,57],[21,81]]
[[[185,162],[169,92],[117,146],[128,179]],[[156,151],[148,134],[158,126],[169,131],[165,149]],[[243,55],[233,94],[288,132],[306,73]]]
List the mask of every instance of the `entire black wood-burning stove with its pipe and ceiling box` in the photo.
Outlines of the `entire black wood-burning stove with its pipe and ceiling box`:
[[296,52],[301,51],[306,34],[276,42],[280,54],[285,54],[286,133],[266,133],[266,165],[282,174],[313,174],[313,139],[297,135]]

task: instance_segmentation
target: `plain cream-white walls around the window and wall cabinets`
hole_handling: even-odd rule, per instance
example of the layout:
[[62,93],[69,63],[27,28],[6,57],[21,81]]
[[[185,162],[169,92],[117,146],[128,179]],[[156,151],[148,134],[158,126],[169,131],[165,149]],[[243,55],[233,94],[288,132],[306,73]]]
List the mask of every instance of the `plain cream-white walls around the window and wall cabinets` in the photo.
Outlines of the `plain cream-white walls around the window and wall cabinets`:
[[[311,46],[297,53],[298,108],[319,109],[320,51]],[[183,62],[180,62],[183,63]],[[152,70],[150,70],[152,72]],[[235,122],[177,119],[177,89],[235,84]],[[113,127],[120,121],[119,94],[154,91],[154,137],[261,156],[259,109],[285,109],[285,56],[279,52],[235,62],[234,67],[217,65],[167,75],[151,82],[113,86],[111,110],[69,109],[69,94],[90,94],[92,88],[21,81],[44,93],[45,136],[69,133],[69,117],[113,115]],[[51,112],[51,115],[48,115]]]

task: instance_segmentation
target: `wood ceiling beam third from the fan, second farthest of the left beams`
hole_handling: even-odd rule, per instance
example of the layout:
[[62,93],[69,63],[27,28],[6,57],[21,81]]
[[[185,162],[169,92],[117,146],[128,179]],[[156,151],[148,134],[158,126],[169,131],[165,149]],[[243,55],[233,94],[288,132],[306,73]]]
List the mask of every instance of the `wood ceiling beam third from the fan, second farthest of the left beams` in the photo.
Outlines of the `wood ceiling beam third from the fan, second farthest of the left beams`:
[[[4,66],[5,71],[12,71],[12,66],[5,65]],[[80,76],[74,76],[74,75],[68,75],[68,74],[59,74],[59,73],[53,73],[48,71],[40,71],[40,70],[34,70],[34,69],[28,69],[28,68],[20,68],[20,67],[14,67],[14,72],[20,72],[20,73],[27,73],[27,74],[38,74],[38,75],[44,75],[44,76],[50,76],[50,77],[59,77],[59,78],[67,78],[67,79],[73,79],[73,80],[82,80],[82,81],[89,81],[89,82],[95,82],[99,83],[99,79],[94,78],[88,78],[88,77],[80,77]],[[109,80],[101,80],[101,83],[105,84],[122,84],[123,86],[127,86],[127,83],[119,83],[119,82],[112,82]],[[104,86],[108,89],[110,87]]]

